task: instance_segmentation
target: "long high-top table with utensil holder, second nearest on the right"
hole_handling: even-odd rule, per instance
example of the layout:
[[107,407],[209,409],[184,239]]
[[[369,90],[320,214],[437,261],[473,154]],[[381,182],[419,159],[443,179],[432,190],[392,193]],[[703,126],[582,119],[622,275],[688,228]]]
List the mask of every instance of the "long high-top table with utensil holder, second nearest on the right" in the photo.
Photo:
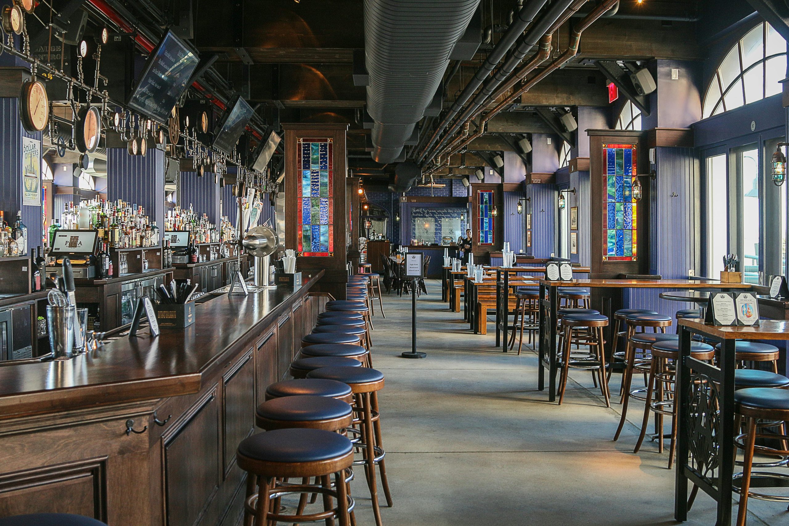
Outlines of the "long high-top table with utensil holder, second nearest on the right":
[[[703,282],[690,279],[574,279],[571,282],[540,280],[540,368],[537,389],[545,389],[545,368],[548,367],[548,401],[556,400],[556,311],[559,306],[559,287],[586,289],[751,289],[750,283]],[[545,293],[548,297],[545,297]],[[613,314],[613,313],[611,313]],[[507,341],[505,340],[505,345]],[[733,345],[732,345],[733,349]],[[732,373],[733,375],[734,373]]]

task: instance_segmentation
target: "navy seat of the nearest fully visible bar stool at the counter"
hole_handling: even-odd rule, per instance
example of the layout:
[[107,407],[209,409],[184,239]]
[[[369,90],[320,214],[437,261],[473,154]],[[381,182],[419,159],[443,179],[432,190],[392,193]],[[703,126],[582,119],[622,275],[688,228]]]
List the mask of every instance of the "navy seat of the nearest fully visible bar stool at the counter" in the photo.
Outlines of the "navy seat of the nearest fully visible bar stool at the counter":
[[275,429],[245,438],[238,454],[267,462],[318,462],[353,451],[347,437],[320,429]]

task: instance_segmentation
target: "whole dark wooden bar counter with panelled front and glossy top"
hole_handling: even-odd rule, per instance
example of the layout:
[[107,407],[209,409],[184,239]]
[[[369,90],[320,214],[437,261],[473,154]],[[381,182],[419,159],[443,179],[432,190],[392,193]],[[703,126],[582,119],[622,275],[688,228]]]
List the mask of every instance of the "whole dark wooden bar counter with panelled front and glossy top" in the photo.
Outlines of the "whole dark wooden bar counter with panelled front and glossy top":
[[146,329],[73,360],[0,367],[0,517],[237,524],[236,447],[327,300],[310,293],[322,275],[215,297],[158,338]]

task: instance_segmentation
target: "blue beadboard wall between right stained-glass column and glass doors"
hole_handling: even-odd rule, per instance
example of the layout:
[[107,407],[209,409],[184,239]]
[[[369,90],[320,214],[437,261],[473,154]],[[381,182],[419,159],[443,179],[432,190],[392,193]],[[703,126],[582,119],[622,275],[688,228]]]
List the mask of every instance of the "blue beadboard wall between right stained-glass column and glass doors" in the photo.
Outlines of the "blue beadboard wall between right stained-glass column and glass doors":
[[[693,148],[656,148],[657,177],[650,186],[649,272],[664,279],[686,279],[688,270],[698,272],[700,251],[696,229],[699,198],[699,163]],[[649,308],[675,315],[695,304],[661,300],[668,289],[625,289],[630,308]]]

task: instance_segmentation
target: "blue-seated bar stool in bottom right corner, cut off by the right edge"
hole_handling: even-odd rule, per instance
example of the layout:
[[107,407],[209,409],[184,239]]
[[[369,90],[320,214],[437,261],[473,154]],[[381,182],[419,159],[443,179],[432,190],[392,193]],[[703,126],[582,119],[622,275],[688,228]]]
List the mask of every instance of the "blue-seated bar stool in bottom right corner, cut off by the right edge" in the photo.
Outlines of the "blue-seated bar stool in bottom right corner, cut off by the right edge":
[[[768,457],[787,457],[786,443],[789,436],[785,434],[774,435],[757,432],[757,420],[789,420],[789,390],[773,389],[769,387],[753,387],[735,391],[735,429],[739,428],[742,419],[746,422],[746,432],[735,438],[735,445],[743,450],[742,473],[735,474],[735,481],[739,479],[739,488],[734,485],[734,490],[740,494],[739,509],[737,510],[737,526],[745,526],[748,499],[757,498],[765,501],[787,502],[787,498],[779,495],[769,495],[750,491],[753,476],[762,480],[776,480],[778,485],[786,483],[789,476],[777,472],[753,472],[753,453],[760,453]],[[783,444],[783,450],[768,446],[757,446],[757,438],[778,440]],[[760,484],[760,487],[765,487]]]

